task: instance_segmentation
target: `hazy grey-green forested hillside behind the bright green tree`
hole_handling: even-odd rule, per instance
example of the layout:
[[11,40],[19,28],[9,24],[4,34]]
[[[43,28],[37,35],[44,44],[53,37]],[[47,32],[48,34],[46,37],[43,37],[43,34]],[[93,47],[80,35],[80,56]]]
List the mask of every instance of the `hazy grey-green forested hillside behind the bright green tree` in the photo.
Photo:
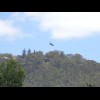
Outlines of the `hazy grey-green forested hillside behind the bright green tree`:
[[[3,56],[13,57],[1,54],[1,62]],[[25,71],[24,87],[100,86],[100,63],[87,60],[80,54],[65,54],[57,50],[44,54],[24,49],[15,59]]]

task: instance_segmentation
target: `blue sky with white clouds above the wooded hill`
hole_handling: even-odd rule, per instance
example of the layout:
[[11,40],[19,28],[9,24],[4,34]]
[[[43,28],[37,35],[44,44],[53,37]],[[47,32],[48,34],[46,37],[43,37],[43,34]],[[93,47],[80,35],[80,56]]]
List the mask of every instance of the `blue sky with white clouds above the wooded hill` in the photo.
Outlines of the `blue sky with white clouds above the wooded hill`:
[[99,43],[100,12],[0,12],[0,53],[59,50],[100,62]]

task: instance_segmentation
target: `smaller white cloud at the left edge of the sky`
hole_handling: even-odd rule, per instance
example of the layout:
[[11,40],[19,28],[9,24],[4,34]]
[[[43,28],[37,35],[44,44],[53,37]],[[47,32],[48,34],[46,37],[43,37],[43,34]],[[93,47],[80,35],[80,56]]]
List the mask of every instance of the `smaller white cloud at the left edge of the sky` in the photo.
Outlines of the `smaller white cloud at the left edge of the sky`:
[[21,31],[21,29],[14,26],[11,20],[0,20],[0,37],[5,37],[9,41],[17,38],[30,37]]

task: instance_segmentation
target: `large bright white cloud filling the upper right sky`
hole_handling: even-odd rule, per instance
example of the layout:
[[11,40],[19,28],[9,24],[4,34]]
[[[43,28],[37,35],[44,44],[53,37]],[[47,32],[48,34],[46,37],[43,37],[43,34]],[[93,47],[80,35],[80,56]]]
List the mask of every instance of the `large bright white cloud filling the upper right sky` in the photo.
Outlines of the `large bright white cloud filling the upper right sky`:
[[53,39],[82,38],[100,33],[100,12],[23,12],[24,20],[35,20]]

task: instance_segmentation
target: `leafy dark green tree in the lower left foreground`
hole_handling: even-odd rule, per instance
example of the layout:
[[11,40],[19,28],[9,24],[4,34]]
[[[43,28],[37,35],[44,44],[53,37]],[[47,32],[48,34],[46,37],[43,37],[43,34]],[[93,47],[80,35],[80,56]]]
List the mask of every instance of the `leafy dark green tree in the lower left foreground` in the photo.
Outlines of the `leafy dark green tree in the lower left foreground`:
[[1,87],[22,87],[24,78],[22,66],[16,60],[10,59],[0,64]]

